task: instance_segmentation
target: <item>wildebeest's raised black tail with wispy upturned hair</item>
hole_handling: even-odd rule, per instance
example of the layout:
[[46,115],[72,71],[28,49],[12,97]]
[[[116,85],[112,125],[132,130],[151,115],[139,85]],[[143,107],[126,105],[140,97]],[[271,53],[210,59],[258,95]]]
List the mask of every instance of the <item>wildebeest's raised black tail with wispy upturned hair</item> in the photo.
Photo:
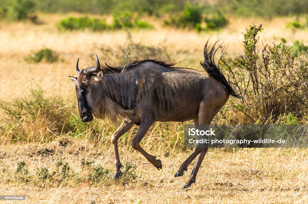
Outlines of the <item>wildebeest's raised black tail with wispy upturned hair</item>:
[[217,50],[221,47],[215,48],[215,45],[217,42],[211,46],[208,46],[209,41],[206,42],[204,46],[204,61],[200,64],[205,69],[205,71],[208,72],[209,75],[213,76],[215,79],[220,81],[226,88],[226,90],[234,97],[236,98],[243,98],[241,95],[241,91],[237,87],[236,90],[234,90],[233,87],[230,86],[229,82],[226,80],[224,74],[221,72],[219,65],[216,66],[214,61],[214,56]]

